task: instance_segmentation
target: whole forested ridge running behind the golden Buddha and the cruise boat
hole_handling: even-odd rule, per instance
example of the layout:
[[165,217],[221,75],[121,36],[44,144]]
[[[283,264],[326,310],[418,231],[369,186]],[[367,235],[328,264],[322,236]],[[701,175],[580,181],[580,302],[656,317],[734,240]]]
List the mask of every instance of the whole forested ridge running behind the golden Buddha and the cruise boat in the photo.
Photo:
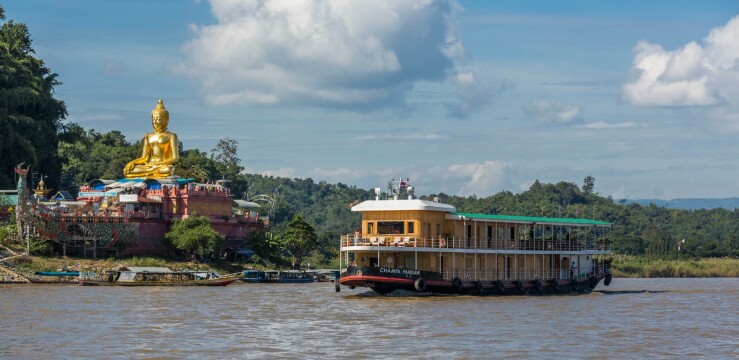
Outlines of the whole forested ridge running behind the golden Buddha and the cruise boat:
[[[59,136],[57,155],[61,159],[61,188],[74,191],[74,184],[96,178],[116,179],[123,165],[135,156],[140,144],[131,144],[119,131],[97,133],[75,124]],[[210,154],[182,149],[175,172],[199,181],[231,180],[235,198],[251,199],[269,195],[276,199],[273,224],[281,231],[294,215],[312,224],[322,253],[335,251],[340,234],[359,226],[359,214],[350,207],[372,198],[369,189],[342,183],[316,183],[312,179],[287,179],[243,173],[238,142],[218,141]],[[457,211],[481,214],[508,214],[546,217],[599,219],[613,224],[614,250],[622,254],[659,258],[680,256],[739,256],[739,211],[726,209],[677,210],[655,205],[623,204],[595,191],[595,179],[587,177],[582,187],[573,183],[542,184],[539,181],[520,194],[500,192],[478,198],[448,194],[426,194],[421,198],[454,205]],[[262,214],[269,212],[264,204]],[[685,243],[682,240],[685,239]],[[680,254],[678,254],[680,242]]]

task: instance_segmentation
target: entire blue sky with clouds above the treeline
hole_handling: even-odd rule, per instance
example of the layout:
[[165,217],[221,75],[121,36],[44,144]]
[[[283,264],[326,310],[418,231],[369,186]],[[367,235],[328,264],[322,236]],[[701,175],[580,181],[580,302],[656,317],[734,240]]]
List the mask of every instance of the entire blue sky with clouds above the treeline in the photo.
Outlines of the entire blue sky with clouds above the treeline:
[[739,197],[739,1],[6,0],[67,121],[248,173],[418,194],[535,180]]

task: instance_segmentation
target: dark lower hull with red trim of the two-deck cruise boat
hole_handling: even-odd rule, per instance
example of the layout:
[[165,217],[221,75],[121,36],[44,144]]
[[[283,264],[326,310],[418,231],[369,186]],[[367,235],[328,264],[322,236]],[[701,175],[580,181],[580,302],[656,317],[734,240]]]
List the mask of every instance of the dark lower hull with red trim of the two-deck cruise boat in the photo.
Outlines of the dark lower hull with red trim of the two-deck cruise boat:
[[[577,280],[530,279],[488,280],[442,279],[432,271],[384,267],[350,267],[342,271],[339,283],[350,288],[368,287],[385,294],[394,290],[461,295],[539,295],[589,293],[609,273],[593,274]],[[609,281],[610,282],[610,281]]]

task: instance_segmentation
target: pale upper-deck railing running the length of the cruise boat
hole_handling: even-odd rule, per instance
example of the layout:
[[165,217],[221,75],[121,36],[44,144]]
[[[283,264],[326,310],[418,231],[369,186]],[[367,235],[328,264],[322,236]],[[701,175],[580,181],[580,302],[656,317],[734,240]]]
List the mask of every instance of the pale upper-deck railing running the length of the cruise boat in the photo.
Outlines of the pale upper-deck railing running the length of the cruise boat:
[[453,238],[386,235],[357,236],[346,234],[341,236],[341,247],[348,246],[384,246],[384,247],[419,247],[436,249],[480,249],[480,250],[525,250],[525,251],[609,251],[610,240],[599,239],[567,239],[567,240],[505,240],[486,238]]

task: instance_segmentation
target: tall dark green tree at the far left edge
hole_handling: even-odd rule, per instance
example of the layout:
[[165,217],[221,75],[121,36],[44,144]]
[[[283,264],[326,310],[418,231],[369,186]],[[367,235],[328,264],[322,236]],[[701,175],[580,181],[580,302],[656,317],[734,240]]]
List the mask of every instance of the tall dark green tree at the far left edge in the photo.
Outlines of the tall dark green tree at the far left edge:
[[61,83],[33,56],[28,27],[5,21],[0,6],[0,188],[15,185],[13,168],[25,162],[33,172],[59,183],[57,132],[67,115],[64,102],[54,98]]

